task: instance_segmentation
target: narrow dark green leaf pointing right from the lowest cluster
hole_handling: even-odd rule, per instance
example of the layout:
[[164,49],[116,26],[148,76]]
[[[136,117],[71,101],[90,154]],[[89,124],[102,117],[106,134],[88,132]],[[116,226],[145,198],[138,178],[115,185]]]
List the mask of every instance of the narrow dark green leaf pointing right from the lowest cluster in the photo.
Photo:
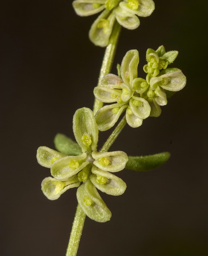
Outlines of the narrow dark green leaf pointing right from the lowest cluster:
[[169,152],[150,156],[128,156],[126,168],[134,171],[150,171],[164,164],[169,157]]

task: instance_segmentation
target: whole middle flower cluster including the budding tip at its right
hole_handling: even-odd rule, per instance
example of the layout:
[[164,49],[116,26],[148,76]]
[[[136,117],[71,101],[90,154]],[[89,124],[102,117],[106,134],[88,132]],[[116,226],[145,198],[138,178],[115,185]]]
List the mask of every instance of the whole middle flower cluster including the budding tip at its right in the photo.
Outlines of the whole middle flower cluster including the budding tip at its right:
[[167,68],[178,52],[165,52],[164,46],[157,51],[147,50],[148,64],[144,66],[146,80],[137,77],[139,54],[130,50],[124,56],[120,76],[108,74],[101,86],[94,88],[95,97],[105,103],[117,102],[100,108],[96,123],[100,131],[111,128],[126,110],[126,120],[131,127],[138,127],[148,116],[159,116],[160,106],[167,104],[166,90],[175,92],[186,84],[186,77],[178,68]]

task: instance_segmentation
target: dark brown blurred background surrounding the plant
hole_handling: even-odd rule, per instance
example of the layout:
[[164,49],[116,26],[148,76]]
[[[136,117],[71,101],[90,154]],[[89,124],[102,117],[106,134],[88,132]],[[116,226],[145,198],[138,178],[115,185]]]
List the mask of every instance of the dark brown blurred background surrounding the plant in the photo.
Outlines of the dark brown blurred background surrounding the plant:
[[[112,219],[85,221],[78,255],[208,255],[207,2],[155,0],[136,30],[122,29],[116,64],[130,49],[163,44],[178,50],[171,67],[187,85],[137,129],[126,126],[111,150],[128,155],[169,151],[150,172],[123,170],[122,196],[100,193]],[[77,16],[71,1],[1,1],[1,255],[65,255],[76,210],[76,189],[48,200],[41,181],[50,170],[36,161],[39,146],[54,148],[56,133],[73,138],[77,108],[93,106],[104,48],[88,31],[97,15]],[[102,146],[112,129],[100,133]]]

